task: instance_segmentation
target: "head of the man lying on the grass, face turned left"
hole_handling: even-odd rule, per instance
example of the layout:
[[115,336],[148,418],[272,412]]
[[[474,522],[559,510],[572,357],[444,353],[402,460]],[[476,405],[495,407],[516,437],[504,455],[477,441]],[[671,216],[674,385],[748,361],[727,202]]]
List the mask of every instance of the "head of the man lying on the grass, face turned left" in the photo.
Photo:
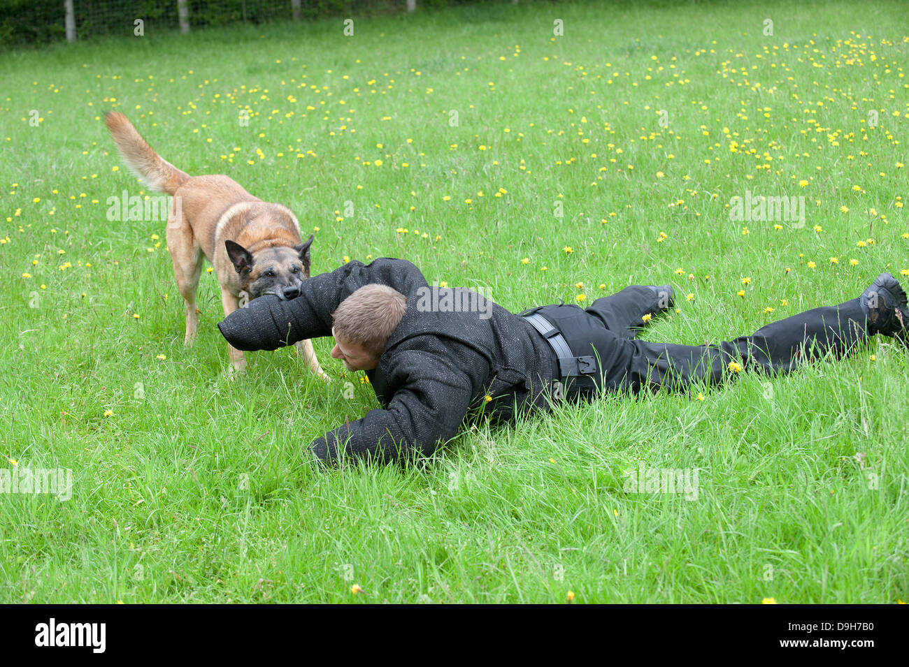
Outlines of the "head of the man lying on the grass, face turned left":
[[405,296],[386,285],[357,289],[332,313],[332,357],[348,370],[375,368],[406,309]]

